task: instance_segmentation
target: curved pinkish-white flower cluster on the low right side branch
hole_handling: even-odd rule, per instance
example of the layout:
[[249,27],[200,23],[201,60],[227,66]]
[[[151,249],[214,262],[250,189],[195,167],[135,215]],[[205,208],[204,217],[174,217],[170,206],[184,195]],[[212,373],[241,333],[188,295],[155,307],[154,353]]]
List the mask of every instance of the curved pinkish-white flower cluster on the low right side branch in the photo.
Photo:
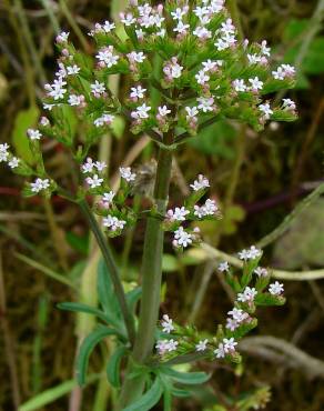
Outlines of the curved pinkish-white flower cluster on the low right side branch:
[[[281,305],[285,302],[283,284],[275,281],[269,284],[271,274],[259,261],[262,251],[252,245],[239,253],[243,258],[243,273],[234,274],[227,261],[221,262],[219,271],[236,294],[234,307],[227,312],[225,325],[219,325],[215,337],[205,338],[193,327],[181,327],[164,314],[161,320],[161,338],[156,351],[163,359],[196,352],[209,360],[224,359],[230,362],[241,360],[237,352],[240,339],[257,325],[253,315],[257,305]],[[247,258],[246,258],[247,254]]]

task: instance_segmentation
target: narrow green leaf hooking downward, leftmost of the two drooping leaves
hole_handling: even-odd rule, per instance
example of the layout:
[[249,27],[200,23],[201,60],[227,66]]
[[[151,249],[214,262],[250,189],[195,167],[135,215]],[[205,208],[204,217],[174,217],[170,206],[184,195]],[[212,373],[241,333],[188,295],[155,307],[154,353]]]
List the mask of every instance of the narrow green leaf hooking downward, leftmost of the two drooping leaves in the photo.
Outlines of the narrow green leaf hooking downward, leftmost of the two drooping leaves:
[[82,387],[85,383],[85,374],[89,364],[89,358],[94,347],[105,337],[114,335],[115,330],[107,327],[100,327],[92,331],[82,342],[77,357],[77,379],[78,383]]

